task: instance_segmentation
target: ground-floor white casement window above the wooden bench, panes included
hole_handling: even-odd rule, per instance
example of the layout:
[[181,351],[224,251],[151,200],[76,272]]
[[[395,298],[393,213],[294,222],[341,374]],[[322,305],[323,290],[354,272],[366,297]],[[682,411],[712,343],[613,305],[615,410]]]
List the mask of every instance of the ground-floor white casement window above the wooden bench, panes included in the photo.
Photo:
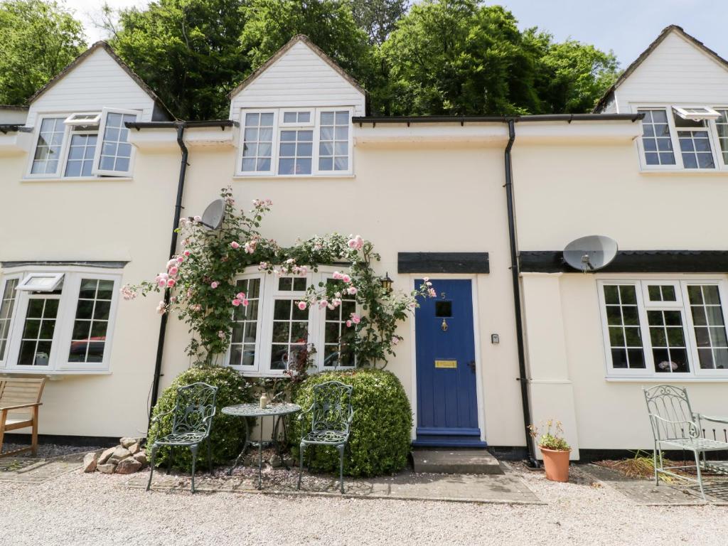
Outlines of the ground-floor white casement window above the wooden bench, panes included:
[[[60,280],[51,284],[52,278]],[[108,371],[120,280],[90,268],[7,275],[0,304],[4,371]]]

